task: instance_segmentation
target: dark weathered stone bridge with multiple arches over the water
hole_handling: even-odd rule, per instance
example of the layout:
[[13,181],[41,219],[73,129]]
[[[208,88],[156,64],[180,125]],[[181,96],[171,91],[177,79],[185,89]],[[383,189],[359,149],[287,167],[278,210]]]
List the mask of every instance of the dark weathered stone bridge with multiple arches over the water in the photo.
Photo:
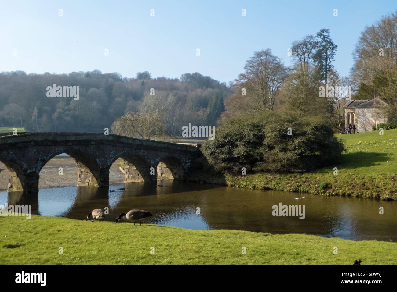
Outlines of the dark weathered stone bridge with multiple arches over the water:
[[109,168],[125,162],[124,182],[182,180],[200,156],[193,145],[93,133],[12,133],[0,135],[0,161],[10,170],[8,191],[37,193],[42,167],[66,153],[77,164],[77,186],[109,186]]

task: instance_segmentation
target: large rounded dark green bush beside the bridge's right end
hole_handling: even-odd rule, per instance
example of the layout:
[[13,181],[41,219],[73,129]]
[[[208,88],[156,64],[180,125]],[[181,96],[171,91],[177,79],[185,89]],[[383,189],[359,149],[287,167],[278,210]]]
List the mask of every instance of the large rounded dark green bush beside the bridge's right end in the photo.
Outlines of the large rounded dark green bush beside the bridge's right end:
[[202,145],[202,152],[217,170],[229,173],[241,172],[243,167],[300,172],[335,162],[345,150],[324,120],[273,112],[226,120],[215,133],[214,140]]

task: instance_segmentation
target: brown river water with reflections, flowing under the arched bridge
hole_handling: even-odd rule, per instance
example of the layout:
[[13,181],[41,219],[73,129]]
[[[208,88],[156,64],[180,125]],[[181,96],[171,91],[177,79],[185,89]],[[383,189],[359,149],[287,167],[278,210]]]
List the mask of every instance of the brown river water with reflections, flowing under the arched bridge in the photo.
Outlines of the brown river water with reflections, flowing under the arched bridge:
[[[238,229],[397,241],[397,202],[314,195],[294,200],[296,193],[178,181],[159,181],[157,185],[121,183],[111,185],[109,189],[41,189],[36,197],[10,194],[0,193],[0,204],[31,204],[33,213],[43,216],[85,219],[94,208],[104,210],[108,207],[109,215],[105,220],[114,221],[122,212],[143,209],[154,215],[146,223],[189,229]],[[272,216],[272,206],[279,202],[304,204],[306,218]],[[384,215],[379,214],[380,206],[384,207]],[[200,208],[199,214],[197,208]]]

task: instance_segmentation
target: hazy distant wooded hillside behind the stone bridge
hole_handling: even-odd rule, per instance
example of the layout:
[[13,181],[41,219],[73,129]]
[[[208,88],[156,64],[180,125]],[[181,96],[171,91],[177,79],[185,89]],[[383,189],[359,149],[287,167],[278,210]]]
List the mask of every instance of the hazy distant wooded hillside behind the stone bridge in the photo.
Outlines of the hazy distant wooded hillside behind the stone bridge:
[[[47,87],[79,86],[79,99],[48,97]],[[0,73],[0,125],[27,131],[103,132],[125,113],[167,111],[166,131],[178,136],[189,123],[216,125],[231,89],[209,76],[136,78],[119,73]],[[165,106],[166,105],[166,106]]]

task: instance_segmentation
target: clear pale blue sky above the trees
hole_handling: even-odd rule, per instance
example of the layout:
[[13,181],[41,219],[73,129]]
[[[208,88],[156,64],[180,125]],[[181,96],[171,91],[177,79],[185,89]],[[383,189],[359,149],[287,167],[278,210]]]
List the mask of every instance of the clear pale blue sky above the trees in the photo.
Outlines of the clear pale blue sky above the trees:
[[[127,77],[138,71],[149,71],[153,77],[200,72],[227,82],[243,72],[254,51],[270,48],[289,65],[287,49],[293,40],[327,28],[338,46],[335,69],[344,76],[353,65],[351,53],[360,32],[397,10],[396,4],[395,0],[1,0],[0,71],[98,69]],[[58,16],[61,8],[63,17]],[[243,8],[246,17],[241,16]]]

